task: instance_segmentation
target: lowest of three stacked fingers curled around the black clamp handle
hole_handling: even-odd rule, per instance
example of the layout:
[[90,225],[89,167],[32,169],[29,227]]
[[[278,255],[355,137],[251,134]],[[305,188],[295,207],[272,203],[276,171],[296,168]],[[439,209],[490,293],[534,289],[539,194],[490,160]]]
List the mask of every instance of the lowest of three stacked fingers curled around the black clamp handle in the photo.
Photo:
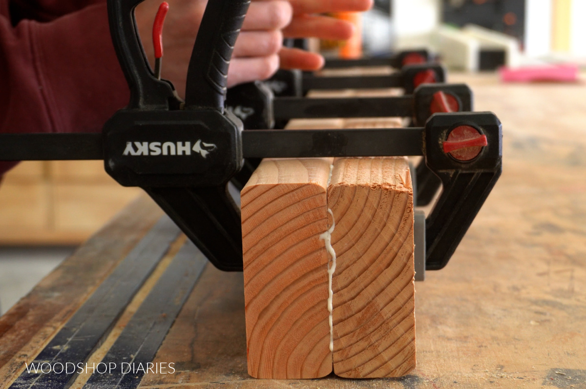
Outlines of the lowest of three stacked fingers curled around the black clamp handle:
[[279,69],[279,56],[234,58],[228,70],[228,87],[249,83],[254,80],[266,80]]

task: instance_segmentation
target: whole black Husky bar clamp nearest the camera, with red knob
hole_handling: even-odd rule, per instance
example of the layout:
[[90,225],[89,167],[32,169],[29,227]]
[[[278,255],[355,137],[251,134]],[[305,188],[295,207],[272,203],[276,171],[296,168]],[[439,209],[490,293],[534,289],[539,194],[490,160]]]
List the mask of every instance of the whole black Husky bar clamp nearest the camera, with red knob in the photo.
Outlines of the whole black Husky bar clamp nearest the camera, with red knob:
[[[172,84],[149,69],[132,16],[138,3],[108,0],[115,49],[131,88],[128,107],[103,134],[0,135],[0,160],[103,158],[115,180],[142,187],[217,268],[241,271],[240,212],[226,185],[243,158],[422,155],[443,185],[425,221],[425,267],[447,264],[502,171],[494,114],[434,114],[423,128],[242,131],[241,121],[224,110],[224,97],[231,50],[250,2],[208,2],[185,105]],[[458,136],[450,138],[453,131]],[[462,134],[472,134],[479,147],[468,161],[454,156],[469,147]]]

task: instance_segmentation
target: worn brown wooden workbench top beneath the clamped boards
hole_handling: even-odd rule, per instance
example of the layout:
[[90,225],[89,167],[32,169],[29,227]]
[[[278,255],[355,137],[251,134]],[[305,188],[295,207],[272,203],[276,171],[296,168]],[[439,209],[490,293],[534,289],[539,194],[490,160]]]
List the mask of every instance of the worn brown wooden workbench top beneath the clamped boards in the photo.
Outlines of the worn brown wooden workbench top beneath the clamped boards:
[[[156,352],[154,362],[175,363],[175,373],[145,374],[139,387],[586,388],[586,86],[502,85],[493,75],[449,81],[469,83],[476,110],[503,122],[503,175],[448,266],[415,284],[412,374],[250,378],[243,276],[207,264]],[[161,216],[138,200],[2,316],[0,387],[50,344]],[[183,240],[170,238],[90,361],[124,332]]]

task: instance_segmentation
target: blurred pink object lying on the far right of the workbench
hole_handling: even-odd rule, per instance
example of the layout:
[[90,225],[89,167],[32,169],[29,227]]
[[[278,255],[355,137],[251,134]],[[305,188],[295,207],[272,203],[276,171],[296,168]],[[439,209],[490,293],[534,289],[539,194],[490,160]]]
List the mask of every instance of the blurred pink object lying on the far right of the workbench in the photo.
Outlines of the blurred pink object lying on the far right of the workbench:
[[505,83],[530,83],[533,81],[575,82],[578,80],[578,65],[540,65],[517,68],[501,67],[500,80]]

